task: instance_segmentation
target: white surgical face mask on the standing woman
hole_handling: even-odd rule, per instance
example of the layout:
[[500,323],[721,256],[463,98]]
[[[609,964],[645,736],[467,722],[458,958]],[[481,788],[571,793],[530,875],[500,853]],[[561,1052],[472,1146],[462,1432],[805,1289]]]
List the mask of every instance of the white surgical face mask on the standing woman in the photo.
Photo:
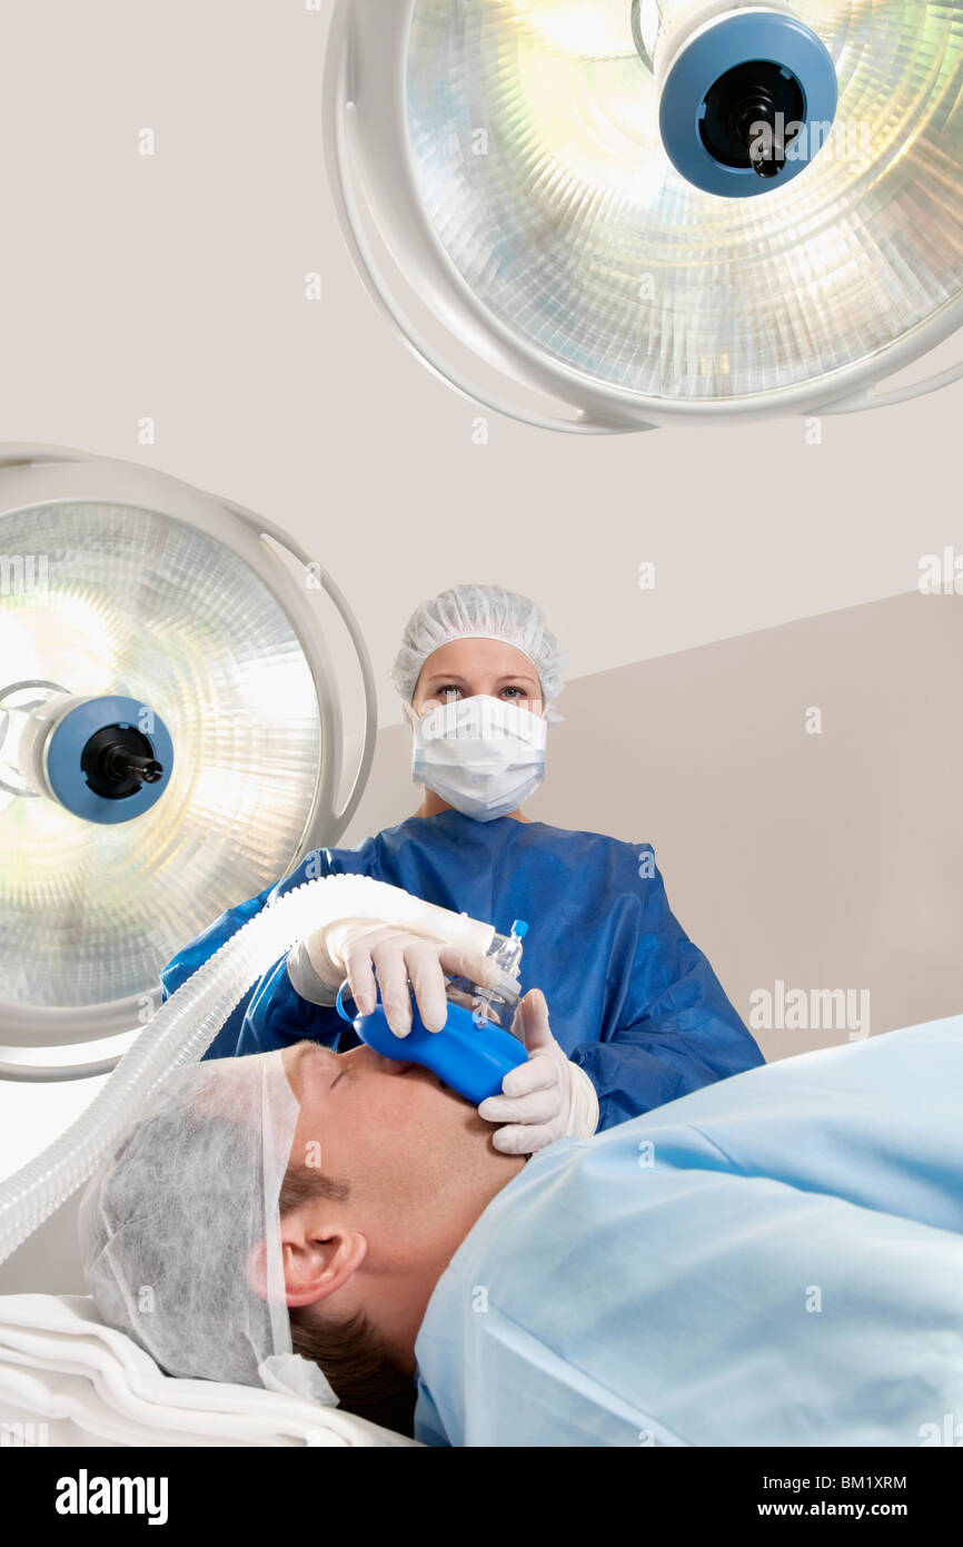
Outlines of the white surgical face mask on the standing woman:
[[475,821],[521,806],[546,777],[547,721],[519,704],[478,695],[439,704],[414,724],[411,778]]

